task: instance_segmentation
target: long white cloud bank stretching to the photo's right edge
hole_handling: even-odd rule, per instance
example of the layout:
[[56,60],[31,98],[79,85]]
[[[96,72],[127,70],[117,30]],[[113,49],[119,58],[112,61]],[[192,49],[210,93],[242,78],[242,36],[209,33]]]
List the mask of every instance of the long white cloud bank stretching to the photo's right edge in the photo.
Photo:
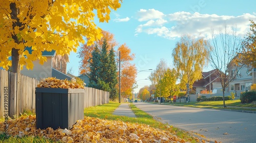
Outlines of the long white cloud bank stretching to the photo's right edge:
[[256,14],[245,13],[239,16],[200,14],[198,12],[175,12],[163,14],[155,9],[138,12],[141,24],[136,28],[139,33],[155,34],[168,39],[180,37],[184,34],[195,36],[210,35],[212,29],[218,30],[226,25],[236,27],[237,33],[244,35],[248,31],[250,19],[256,21]]

